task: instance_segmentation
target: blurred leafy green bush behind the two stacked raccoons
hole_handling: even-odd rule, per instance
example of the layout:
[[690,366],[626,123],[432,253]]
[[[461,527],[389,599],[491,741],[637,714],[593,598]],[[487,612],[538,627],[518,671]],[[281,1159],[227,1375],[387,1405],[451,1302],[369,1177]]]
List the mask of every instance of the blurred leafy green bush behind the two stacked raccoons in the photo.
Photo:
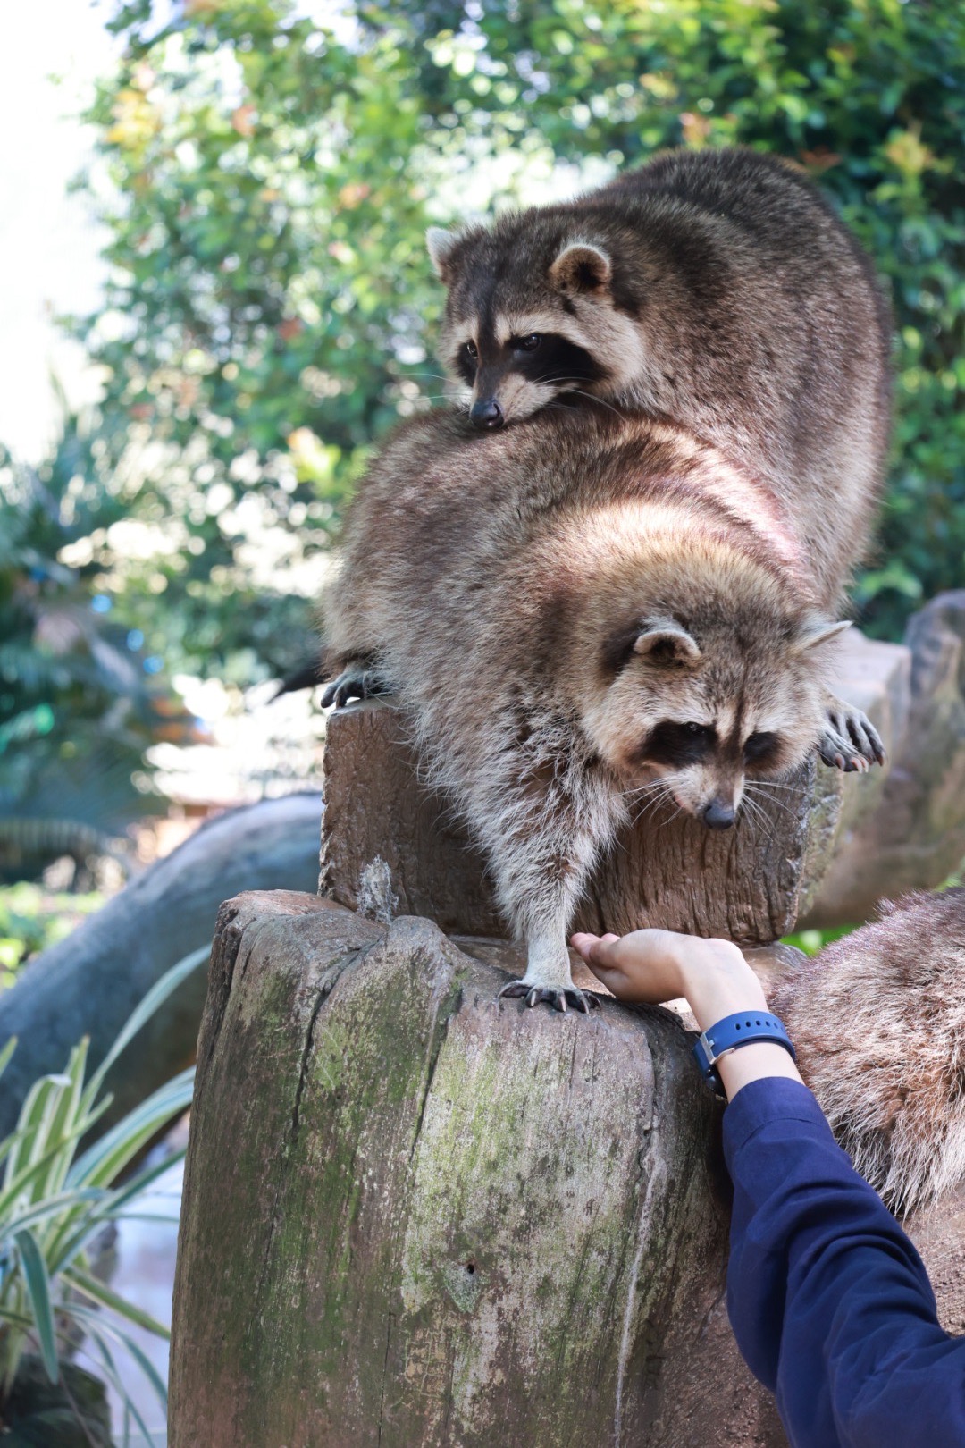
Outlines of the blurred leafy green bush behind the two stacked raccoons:
[[[313,7],[313,16],[317,16]],[[890,284],[894,468],[856,598],[897,634],[965,560],[965,10],[959,0],[440,0],[323,23],[288,0],[123,4],[91,117],[116,200],[106,368],[132,507],[177,547],[152,647],[284,672],[302,565],[369,447],[427,405],[430,222],[556,194],[671,145],[797,158]],[[262,576],[263,539],[289,540]],[[259,543],[259,539],[262,540]],[[139,576],[122,581],[142,589]],[[162,607],[158,607],[161,604]]]

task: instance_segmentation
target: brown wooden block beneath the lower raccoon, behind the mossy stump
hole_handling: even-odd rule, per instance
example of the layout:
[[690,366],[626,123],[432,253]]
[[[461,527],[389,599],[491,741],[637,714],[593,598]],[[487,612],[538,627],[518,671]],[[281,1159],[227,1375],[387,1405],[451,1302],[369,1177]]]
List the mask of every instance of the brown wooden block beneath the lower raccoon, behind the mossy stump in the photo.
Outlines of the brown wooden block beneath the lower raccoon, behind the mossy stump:
[[[856,636],[845,650],[842,692],[856,695],[890,747],[907,676],[901,646]],[[673,807],[648,812],[599,863],[574,928],[660,925],[748,946],[786,935],[820,888],[842,815],[874,811],[883,779],[812,760],[786,786],[760,791],[726,831]],[[331,715],[324,795],[323,895],[375,917],[427,915],[447,933],[505,934],[485,860],[451,804],[420,782],[392,707],[367,702]]]

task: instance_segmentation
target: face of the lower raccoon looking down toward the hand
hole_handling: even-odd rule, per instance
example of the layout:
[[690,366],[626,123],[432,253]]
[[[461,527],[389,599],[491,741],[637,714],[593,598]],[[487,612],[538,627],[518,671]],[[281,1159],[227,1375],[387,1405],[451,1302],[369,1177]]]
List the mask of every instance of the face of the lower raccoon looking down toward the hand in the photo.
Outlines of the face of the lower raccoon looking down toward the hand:
[[823,721],[823,644],[846,624],[809,620],[748,646],[723,631],[699,644],[676,618],[634,624],[605,644],[612,682],[592,711],[593,741],[644,807],[667,799],[712,830],[745,795],[813,750]]

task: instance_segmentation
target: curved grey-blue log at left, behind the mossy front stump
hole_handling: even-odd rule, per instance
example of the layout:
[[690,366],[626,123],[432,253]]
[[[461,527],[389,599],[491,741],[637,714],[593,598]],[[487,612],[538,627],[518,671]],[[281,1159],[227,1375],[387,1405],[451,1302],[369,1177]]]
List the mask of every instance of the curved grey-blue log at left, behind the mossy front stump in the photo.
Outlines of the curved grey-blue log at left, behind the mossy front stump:
[[[0,1043],[19,1037],[0,1077],[6,1135],[38,1076],[64,1070],[91,1037],[95,1066],[165,970],[211,938],[218,905],[242,889],[313,891],[321,796],[285,795],[217,815],[149,866],[67,940],[42,951],[0,995]],[[207,972],[201,966],[145,1027],[109,1077],[111,1121],[194,1058]]]

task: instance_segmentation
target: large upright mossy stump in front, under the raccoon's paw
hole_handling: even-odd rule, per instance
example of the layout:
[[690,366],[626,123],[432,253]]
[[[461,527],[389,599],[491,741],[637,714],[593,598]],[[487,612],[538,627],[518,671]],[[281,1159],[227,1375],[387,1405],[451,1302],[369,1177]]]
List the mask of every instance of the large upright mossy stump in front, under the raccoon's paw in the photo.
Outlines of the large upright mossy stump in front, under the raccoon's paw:
[[726,1326],[690,1037],[496,1003],[493,951],[304,895],[223,908],[172,1448],[786,1448]]

